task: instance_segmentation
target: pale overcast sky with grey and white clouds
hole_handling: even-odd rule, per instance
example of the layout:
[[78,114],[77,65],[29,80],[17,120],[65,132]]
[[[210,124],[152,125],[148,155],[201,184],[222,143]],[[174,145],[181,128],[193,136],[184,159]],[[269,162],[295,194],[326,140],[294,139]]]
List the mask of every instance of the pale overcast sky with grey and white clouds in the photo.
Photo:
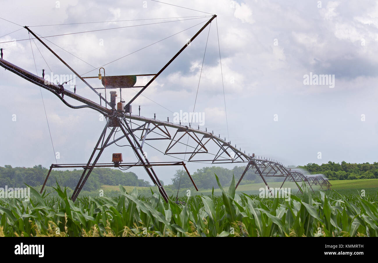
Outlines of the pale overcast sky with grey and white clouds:
[[[213,130],[246,153],[272,157],[285,165],[377,161],[377,2],[163,2],[217,14],[217,25],[214,20],[210,31],[206,28],[146,89],[146,97],[132,103],[134,114],[138,105],[141,115],[153,118],[156,113],[161,120],[172,120],[180,110],[193,110],[209,34],[195,105],[195,112],[204,112],[201,129]],[[106,75],[128,75],[158,72],[209,19],[196,17],[209,15],[199,11],[139,0],[17,1],[2,3],[0,17],[21,26],[38,26],[30,29],[42,36],[134,26],[47,38],[56,45],[46,43],[79,74],[194,26],[105,66]],[[142,20],[151,18],[170,19]],[[134,21],[87,23],[115,20]],[[135,26],[151,23],[155,24]],[[29,38],[19,25],[5,20],[0,25],[0,35],[5,35],[0,42]],[[31,43],[38,75],[42,69],[50,74],[48,66],[54,74],[73,74],[40,43]],[[0,43],[4,59],[35,74],[31,43]],[[0,72],[0,166],[50,166],[55,158],[39,87],[9,71]],[[306,75],[323,74],[330,75],[333,83],[304,85]],[[84,76],[96,75],[98,70]],[[90,83],[101,87],[98,79]],[[78,94],[98,102],[83,82],[76,79],[76,85]],[[136,91],[124,90],[122,97],[131,98]],[[50,92],[42,89],[42,94],[54,148],[60,154],[58,163],[86,163],[105,122],[96,111],[71,109]],[[119,151],[124,161],[135,161],[130,148],[114,147],[99,162],[110,162],[111,153]],[[170,161],[152,150],[149,159]],[[203,165],[188,167],[194,172]],[[159,178],[170,182],[174,170],[158,170]],[[129,171],[149,180],[141,169]]]

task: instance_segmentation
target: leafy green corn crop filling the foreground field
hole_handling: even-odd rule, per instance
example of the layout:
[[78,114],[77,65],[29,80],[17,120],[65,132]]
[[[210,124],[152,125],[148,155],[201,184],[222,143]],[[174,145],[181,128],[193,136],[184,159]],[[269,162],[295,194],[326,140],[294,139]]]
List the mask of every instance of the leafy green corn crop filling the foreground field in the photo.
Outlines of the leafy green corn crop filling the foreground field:
[[0,199],[0,236],[378,236],[376,195],[313,195],[303,184],[302,195],[285,201],[236,194],[234,179],[228,191],[218,185],[220,196],[169,203],[122,186],[118,197],[81,197],[75,203],[59,185],[59,197],[31,188],[30,201]]

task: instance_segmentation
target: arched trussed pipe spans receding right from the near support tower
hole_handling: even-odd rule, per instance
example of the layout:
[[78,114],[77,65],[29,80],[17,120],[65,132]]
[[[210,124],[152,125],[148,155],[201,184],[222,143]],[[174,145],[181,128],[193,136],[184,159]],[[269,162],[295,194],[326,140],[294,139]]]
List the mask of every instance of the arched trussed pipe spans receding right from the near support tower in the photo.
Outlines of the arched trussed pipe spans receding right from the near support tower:
[[[314,191],[312,185],[320,185],[321,187],[325,187],[322,189],[330,189],[329,181],[319,175],[319,178],[316,177],[316,181],[314,182],[313,178],[302,174],[300,171],[291,170],[277,161],[256,158],[245,154],[241,149],[232,146],[231,142],[227,142],[211,132],[132,114],[127,114],[125,118],[128,119],[132,125],[137,127],[133,129],[133,132],[138,133],[136,136],[142,141],[142,144],[146,143],[147,140],[168,140],[165,144],[161,142],[161,144],[163,144],[161,147],[162,150],[157,149],[150,142],[147,143],[149,146],[165,155],[170,155],[187,162],[210,164],[246,163],[246,168],[236,188],[239,186],[246,172],[251,169],[255,174],[260,175],[268,189],[270,188],[265,177],[284,177],[285,179],[281,187],[285,181],[291,181],[296,183],[299,189],[298,191],[301,191],[299,183],[302,183],[302,181],[304,181],[312,191]],[[181,148],[179,148],[179,146],[181,146]]]

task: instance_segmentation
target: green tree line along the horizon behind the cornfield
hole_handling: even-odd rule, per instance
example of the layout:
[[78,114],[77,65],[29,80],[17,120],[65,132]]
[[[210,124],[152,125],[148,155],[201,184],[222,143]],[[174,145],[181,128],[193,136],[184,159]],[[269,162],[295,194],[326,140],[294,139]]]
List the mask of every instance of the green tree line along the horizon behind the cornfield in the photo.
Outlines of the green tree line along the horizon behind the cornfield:
[[[354,180],[354,179],[370,179],[378,178],[378,162],[370,163],[346,163],[342,161],[341,164],[328,161],[318,165],[316,163],[308,163],[304,166],[297,166],[307,170],[310,174],[324,174],[328,180]],[[232,175],[235,180],[239,180],[245,166],[235,166],[232,169],[223,168],[219,166],[204,167],[197,169],[191,174],[195,184],[200,189],[218,188],[217,181],[214,174],[224,186],[231,184]],[[46,186],[56,186],[56,181],[59,185],[67,186],[71,189],[76,187],[76,184],[81,177],[82,169],[73,171],[54,169],[50,173],[50,177]],[[36,165],[33,168],[15,167],[10,165],[0,166],[0,187],[25,187],[27,185],[36,187],[41,186],[45,181],[48,169],[42,165]],[[282,177],[268,177],[267,181],[282,181]],[[258,174],[254,174],[252,169],[249,169],[240,184],[262,183],[262,179]],[[95,168],[83,187],[83,191],[96,191],[102,185],[123,185],[123,186],[147,186],[150,183],[143,179],[138,179],[138,176],[133,172],[124,172],[111,168]],[[172,184],[168,189],[192,188],[192,182],[185,170],[177,170],[172,178]]]

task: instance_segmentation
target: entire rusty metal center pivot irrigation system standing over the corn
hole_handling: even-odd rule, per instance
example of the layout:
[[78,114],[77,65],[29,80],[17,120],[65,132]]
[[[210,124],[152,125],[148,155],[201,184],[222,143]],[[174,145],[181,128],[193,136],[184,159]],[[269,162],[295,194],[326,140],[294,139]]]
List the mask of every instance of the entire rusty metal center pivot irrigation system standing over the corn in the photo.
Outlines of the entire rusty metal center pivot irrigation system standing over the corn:
[[[178,51],[174,57],[172,57],[163,68],[158,71],[156,74],[144,74],[144,75],[124,75],[124,76],[104,76],[102,77],[99,74],[99,79],[102,80],[102,84],[105,89],[105,97],[101,93],[97,92],[86,80],[85,77],[81,77],[71,68],[62,58],[59,57],[49,46],[42,41],[33,31],[31,31],[27,26],[25,29],[32,34],[35,39],[39,40],[50,52],[52,52],[59,60],[64,63],[77,77],[79,77],[90,89],[92,89],[98,96],[100,104],[95,103],[85,97],[82,97],[76,94],[76,89],[74,92],[69,91],[64,88],[64,83],[62,85],[56,85],[52,82],[46,81],[44,79],[44,74],[42,77],[32,74],[31,72],[26,71],[25,69],[19,68],[12,63],[7,62],[3,59],[3,52],[1,52],[0,65],[8,69],[9,71],[19,75],[22,78],[25,78],[31,83],[34,83],[44,89],[55,94],[65,105],[73,109],[79,108],[91,108],[94,109],[105,116],[107,119],[106,125],[101,132],[101,135],[93,149],[93,152],[85,164],[52,164],[50,170],[46,176],[46,180],[43,183],[41,193],[46,184],[46,181],[50,175],[50,172],[53,168],[82,168],[82,175],[74,189],[74,192],[71,196],[71,200],[75,201],[80,191],[82,190],[85,182],[90,176],[93,168],[95,167],[118,167],[118,168],[130,168],[133,166],[143,166],[147,174],[153,181],[153,183],[158,187],[161,196],[165,201],[169,200],[169,197],[164,190],[163,185],[158,179],[153,167],[154,166],[182,166],[185,169],[187,175],[191,179],[194,187],[197,189],[189,171],[187,170],[184,161],[188,162],[199,162],[199,163],[246,163],[246,168],[240,177],[236,188],[239,186],[240,181],[243,179],[246,172],[251,169],[255,174],[259,174],[265,185],[271,191],[268,186],[268,183],[265,180],[265,177],[284,177],[283,183],[286,180],[295,182],[298,186],[298,191],[301,191],[301,188],[298,185],[298,182],[304,181],[311,189],[313,185],[319,185],[321,189],[330,189],[332,186],[327,179],[324,179],[322,176],[305,176],[300,171],[294,171],[290,168],[283,166],[278,161],[270,160],[268,158],[256,157],[255,154],[249,155],[245,151],[242,152],[241,149],[236,148],[231,145],[231,141],[226,141],[226,138],[223,140],[220,138],[220,135],[216,136],[214,131],[208,132],[195,129],[188,126],[183,126],[177,123],[167,122],[157,120],[154,118],[146,118],[139,115],[132,114],[131,103],[161,74],[161,72],[166,69],[175,58],[184,51],[189,43],[193,40],[207,27],[211,24],[216,15],[212,15],[211,18],[202,26],[202,28],[189,40],[185,45]],[[101,68],[100,68],[101,69]],[[105,71],[105,70],[104,70]],[[134,86],[136,83],[136,77],[138,76],[152,76],[151,80],[144,86]],[[88,77],[87,77],[88,78]],[[93,78],[93,77],[91,77]],[[67,82],[65,83],[67,84]],[[110,101],[106,99],[106,89],[118,89],[120,92],[121,101],[116,103],[116,91],[110,91]],[[141,90],[127,103],[122,100],[121,92],[123,88],[141,88]],[[98,88],[97,88],[98,89]],[[81,103],[84,103],[82,106],[72,106],[64,99],[64,97],[73,98]],[[104,105],[102,105],[102,101]],[[110,108],[108,108],[110,106]],[[116,132],[121,131],[122,135],[118,138],[115,138]],[[112,138],[113,137],[113,138]],[[137,163],[122,163],[122,154],[113,154],[113,163],[97,163],[104,149],[112,144],[116,144],[116,141],[125,138],[129,146],[131,146],[132,151],[135,153],[138,158]],[[167,141],[166,149],[160,151],[156,149],[151,144],[153,141],[164,140]],[[143,151],[143,146],[149,145],[150,147],[156,149],[164,155],[169,155],[180,159],[177,162],[150,162]],[[185,157],[189,156],[187,159]],[[183,158],[181,158],[183,157]],[[283,183],[281,187],[283,186]],[[312,189],[313,190],[313,189]],[[198,191],[198,189],[197,189]]]

